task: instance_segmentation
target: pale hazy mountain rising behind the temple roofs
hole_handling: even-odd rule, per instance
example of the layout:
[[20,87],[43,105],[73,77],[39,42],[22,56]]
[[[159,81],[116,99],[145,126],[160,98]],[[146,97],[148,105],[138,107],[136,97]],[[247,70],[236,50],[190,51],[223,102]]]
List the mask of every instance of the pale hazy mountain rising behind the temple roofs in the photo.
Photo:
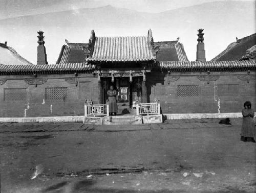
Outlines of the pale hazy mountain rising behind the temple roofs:
[[[59,0],[61,1],[61,0]],[[255,2],[221,1],[204,3],[161,13],[145,13],[104,6],[0,20],[0,42],[36,63],[37,31],[45,32],[49,63],[55,63],[65,39],[88,42],[96,36],[146,35],[153,31],[154,41],[176,40],[184,44],[189,60],[196,58],[197,30],[204,29],[206,59],[218,55],[226,46],[255,33]]]

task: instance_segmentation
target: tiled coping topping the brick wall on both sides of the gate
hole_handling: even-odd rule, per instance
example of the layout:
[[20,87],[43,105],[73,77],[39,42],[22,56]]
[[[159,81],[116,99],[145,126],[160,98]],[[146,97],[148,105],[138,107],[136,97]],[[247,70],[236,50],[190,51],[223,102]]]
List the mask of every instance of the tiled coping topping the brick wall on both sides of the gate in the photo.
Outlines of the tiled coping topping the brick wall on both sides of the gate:
[[[255,61],[207,61],[180,62],[156,61],[148,64],[152,69],[167,69],[170,71],[246,71],[256,70]],[[93,73],[97,70],[95,64],[65,63],[48,65],[3,65],[0,64],[0,75],[34,75],[34,74],[74,74]]]

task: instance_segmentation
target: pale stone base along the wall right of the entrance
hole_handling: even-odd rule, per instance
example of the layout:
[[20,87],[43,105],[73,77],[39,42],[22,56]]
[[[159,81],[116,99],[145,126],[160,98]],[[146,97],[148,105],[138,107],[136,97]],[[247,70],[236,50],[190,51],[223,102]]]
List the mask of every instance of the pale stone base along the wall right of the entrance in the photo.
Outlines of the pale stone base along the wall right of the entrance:
[[189,118],[241,118],[242,113],[184,113],[184,114],[163,114],[167,119],[189,119]]

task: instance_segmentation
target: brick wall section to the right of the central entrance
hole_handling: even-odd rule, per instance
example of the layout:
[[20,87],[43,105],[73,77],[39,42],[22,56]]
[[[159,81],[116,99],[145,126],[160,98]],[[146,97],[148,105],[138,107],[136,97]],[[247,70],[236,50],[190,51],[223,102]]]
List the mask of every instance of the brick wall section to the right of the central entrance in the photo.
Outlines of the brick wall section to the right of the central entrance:
[[[200,76],[198,78],[198,76]],[[152,72],[147,75],[148,100],[159,98],[162,113],[241,112],[244,102],[256,109],[255,72]],[[208,81],[217,79],[216,81]],[[254,79],[254,80],[253,80]]]

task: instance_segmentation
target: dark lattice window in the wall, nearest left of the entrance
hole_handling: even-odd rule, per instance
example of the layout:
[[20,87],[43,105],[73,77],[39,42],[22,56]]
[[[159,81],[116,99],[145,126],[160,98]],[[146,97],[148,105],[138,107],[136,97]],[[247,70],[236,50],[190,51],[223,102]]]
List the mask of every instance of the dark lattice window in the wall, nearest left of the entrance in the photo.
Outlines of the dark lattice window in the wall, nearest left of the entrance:
[[67,87],[46,88],[46,100],[66,100],[68,97]]

